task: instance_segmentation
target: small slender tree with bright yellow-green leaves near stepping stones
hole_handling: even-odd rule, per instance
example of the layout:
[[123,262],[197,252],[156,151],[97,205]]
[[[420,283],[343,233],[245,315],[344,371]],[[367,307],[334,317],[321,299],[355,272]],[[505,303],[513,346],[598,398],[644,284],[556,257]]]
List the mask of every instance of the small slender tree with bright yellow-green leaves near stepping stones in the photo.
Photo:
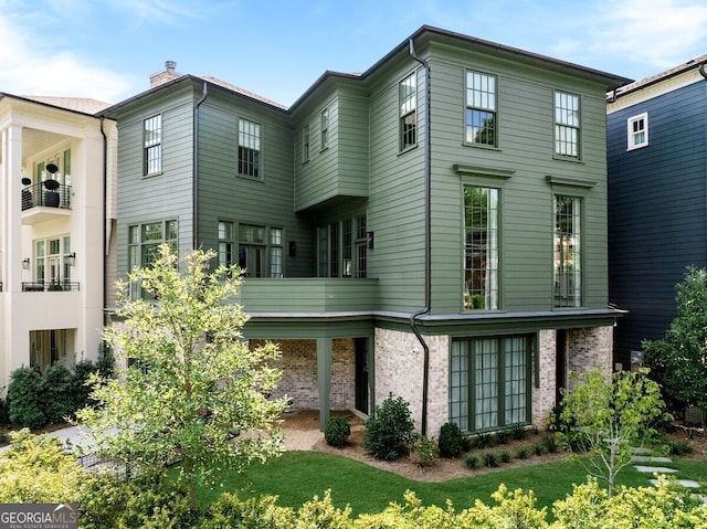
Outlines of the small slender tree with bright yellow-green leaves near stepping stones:
[[647,370],[618,371],[611,380],[599,369],[581,379],[571,373],[574,389],[562,390],[560,429],[563,444],[581,454],[587,472],[606,482],[613,494],[616,474],[632,458],[632,447],[643,445],[654,434],[654,421],[666,419],[659,385]]

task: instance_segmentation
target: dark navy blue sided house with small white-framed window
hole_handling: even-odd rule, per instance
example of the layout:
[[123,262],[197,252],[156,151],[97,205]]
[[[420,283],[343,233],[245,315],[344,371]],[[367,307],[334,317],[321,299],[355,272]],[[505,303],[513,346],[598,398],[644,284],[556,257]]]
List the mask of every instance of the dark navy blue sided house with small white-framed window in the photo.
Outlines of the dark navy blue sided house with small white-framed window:
[[609,94],[609,299],[629,310],[614,353],[665,336],[675,285],[707,265],[707,55]]

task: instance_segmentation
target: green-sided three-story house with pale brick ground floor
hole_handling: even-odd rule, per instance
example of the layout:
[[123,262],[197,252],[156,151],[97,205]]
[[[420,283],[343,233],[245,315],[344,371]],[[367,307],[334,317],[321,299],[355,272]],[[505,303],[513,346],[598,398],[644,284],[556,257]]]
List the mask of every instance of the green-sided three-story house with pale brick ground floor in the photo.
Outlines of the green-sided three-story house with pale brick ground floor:
[[[245,272],[294,408],[389,394],[439,435],[544,427],[609,372],[605,94],[629,80],[423,27],[289,108],[176,64],[117,121],[117,273],[156,244]],[[139,293],[135,293],[139,295]]]

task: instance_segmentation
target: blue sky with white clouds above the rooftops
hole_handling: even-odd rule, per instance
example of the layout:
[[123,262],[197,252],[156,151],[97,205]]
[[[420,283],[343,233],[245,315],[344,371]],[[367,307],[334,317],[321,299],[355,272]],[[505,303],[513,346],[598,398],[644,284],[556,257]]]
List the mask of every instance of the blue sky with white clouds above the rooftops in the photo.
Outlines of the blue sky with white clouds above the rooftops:
[[117,103],[169,60],[291,105],[423,24],[634,80],[707,54],[705,0],[0,0],[0,92]]

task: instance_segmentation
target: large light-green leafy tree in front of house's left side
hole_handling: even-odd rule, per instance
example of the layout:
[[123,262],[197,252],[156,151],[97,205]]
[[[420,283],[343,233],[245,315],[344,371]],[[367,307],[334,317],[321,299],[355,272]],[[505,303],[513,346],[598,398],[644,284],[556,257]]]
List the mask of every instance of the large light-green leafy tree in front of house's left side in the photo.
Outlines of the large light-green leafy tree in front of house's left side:
[[240,271],[209,272],[214,255],[194,251],[179,260],[160,246],[151,267],[128,276],[154,299],[130,299],[128,284],[118,283],[117,317],[125,320],[105,331],[116,377],[94,378],[95,405],[77,414],[99,453],[126,468],[159,470],[181,461],[192,506],[210,470],[240,470],[279,453],[286,408],[284,399],[268,399],[279,351],[273,343],[249,350],[241,340],[247,317],[233,299]]

